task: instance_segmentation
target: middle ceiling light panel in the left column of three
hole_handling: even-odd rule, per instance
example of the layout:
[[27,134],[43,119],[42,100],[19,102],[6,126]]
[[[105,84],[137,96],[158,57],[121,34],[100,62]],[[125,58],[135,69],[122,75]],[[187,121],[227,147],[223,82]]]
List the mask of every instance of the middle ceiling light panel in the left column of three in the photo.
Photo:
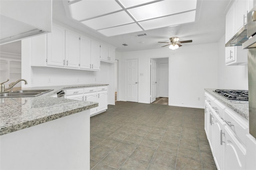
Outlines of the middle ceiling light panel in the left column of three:
[[92,29],[104,29],[108,27],[114,27],[118,25],[123,25],[127,23],[132,23],[134,20],[130,18],[130,16],[124,12],[116,12],[114,14],[110,14],[107,16],[102,16],[99,18],[94,18],[92,20],[82,21],[84,25],[91,27]]

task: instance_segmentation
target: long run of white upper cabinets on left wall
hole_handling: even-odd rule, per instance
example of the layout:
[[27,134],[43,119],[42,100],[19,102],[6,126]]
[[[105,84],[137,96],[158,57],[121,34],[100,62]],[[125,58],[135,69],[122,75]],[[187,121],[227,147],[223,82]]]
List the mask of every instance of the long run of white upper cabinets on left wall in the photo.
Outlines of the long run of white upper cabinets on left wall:
[[[22,43],[29,43],[32,66],[100,70],[100,43],[62,26],[54,24],[52,33],[31,37]],[[107,47],[107,56],[113,56],[113,49]]]

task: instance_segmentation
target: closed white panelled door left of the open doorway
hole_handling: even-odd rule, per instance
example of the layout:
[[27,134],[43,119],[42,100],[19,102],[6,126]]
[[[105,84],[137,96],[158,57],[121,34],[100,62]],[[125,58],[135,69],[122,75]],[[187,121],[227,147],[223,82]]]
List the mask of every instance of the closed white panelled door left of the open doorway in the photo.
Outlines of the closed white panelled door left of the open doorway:
[[126,60],[126,101],[138,102],[138,59]]

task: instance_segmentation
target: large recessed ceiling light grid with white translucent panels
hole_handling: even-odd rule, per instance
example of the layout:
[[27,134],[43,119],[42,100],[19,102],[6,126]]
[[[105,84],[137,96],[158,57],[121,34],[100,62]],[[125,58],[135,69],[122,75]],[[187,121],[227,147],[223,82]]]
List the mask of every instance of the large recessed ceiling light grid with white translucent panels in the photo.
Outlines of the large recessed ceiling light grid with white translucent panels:
[[110,37],[195,21],[196,0],[80,0],[71,18]]

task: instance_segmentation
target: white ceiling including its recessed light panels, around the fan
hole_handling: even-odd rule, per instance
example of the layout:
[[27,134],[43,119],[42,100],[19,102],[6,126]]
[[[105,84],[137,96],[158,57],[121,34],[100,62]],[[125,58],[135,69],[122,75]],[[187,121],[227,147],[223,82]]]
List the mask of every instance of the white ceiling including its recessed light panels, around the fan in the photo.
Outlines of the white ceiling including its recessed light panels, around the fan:
[[[193,40],[184,46],[218,42],[225,33],[225,12],[230,0],[197,0],[196,5],[193,2],[53,0],[52,14],[53,20],[109,43],[120,52],[161,48],[165,44],[158,41],[170,42],[174,36],[180,41]],[[144,33],[146,36],[137,36]]]

